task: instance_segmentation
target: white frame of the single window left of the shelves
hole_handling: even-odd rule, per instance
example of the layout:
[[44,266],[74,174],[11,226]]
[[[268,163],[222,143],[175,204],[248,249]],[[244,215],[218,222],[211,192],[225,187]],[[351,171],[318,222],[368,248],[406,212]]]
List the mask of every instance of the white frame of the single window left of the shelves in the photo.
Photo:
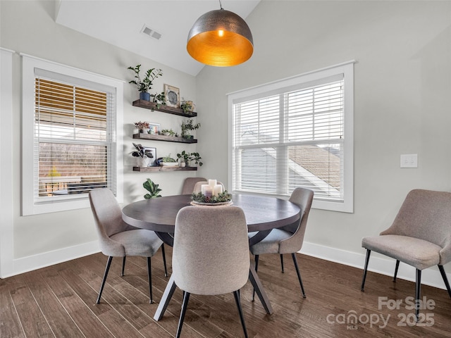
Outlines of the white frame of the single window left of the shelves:
[[[61,77],[75,77],[81,81],[112,87],[116,91],[116,142],[113,145],[115,158],[109,159],[111,170],[116,173],[116,199],[123,201],[123,81],[111,77],[91,73],[79,68],[73,68],[61,63],[47,61],[27,54],[22,56],[22,210],[21,215],[36,215],[57,211],[68,211],[79,208],[89,208],[88,194],[77,194],[68,199],[54,199],[45,203],[35,203],[34,171],[35,159],[30,156],[35,142],[35,73],[36,69],[61,75]],[[113,161],[111,161],[113,160]],[[39,184],[39,183],[38,183]],[[38,187],[36,187],[37,189]]]

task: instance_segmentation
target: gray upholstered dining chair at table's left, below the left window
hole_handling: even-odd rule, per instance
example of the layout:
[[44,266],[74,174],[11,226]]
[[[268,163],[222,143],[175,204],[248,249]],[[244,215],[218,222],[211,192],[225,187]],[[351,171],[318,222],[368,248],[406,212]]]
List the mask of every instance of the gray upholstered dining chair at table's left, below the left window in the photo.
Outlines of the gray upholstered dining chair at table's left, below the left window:
[[149,277],[150,303],[152,299],[152,265],[151,257],[161,246],[165,275],[166,256],[163,241],[151,230],[138,229],[128,225],[122,220],[121,207],[110,189],[94,189],[89,192],[92,214],[97,225],[97,234],[101,252],[109,256],[106,262],[104,278],[101,282],[97,303],[100,303],[101,293],[104,290],[106,276],[108,275],[113,257],[123,257],[122,274],[124,275],[126,256],[147,257],[147,275]]

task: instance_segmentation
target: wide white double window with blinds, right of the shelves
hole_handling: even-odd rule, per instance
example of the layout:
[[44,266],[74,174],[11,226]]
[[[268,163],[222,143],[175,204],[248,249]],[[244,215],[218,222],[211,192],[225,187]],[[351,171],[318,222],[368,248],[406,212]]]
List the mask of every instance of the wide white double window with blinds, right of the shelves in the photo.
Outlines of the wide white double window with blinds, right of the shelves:
[[353,63],[229,95],[233,192],[290,196],[352,212]]

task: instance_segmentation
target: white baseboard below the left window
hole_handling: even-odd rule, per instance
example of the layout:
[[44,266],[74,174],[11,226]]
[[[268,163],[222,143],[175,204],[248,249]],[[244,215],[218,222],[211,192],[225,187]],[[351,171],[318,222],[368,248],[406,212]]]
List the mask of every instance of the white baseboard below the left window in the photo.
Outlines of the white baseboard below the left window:
[[2,275],[2,278],[19,275],[20,273],[27,273],[28,271],[45,268],[50,265],[71,261],[75,258],[91,255],[99,252],[99,242],[89,242],[76,246],[69,246],[68,248],[58,249],[54,251],[47,251],[39,253],[34,256],[27,256],[13,260],[13,271],[7,275]]

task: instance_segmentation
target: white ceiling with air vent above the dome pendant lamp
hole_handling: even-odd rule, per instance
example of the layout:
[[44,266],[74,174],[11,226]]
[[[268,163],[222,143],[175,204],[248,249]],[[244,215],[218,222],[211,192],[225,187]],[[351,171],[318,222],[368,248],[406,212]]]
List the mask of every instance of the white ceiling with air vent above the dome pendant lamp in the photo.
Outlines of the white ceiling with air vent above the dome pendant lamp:
[[[243,19],[259,2],[221,1]],[[186,51],[188,32],[200,15],[219,8],[218,0],[60,0],[56,23],[195,76],[204,65]],[[144,25],[161,38],[144,35]]]

